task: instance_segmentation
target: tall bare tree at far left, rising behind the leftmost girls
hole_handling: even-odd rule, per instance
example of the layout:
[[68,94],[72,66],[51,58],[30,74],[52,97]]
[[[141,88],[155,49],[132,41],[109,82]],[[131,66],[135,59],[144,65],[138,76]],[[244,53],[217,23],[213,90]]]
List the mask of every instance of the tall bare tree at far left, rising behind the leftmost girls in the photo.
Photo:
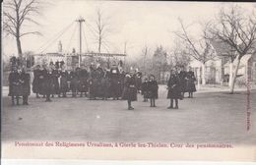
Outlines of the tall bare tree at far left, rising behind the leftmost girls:
[[38,25],[33,16],[39,14],[39,0],[5,0],[3,3],[3,28],[7,34],[16,38],[18,55],[22,58],[21,37],[39,34],[38,31],[24,31],[26,23]]

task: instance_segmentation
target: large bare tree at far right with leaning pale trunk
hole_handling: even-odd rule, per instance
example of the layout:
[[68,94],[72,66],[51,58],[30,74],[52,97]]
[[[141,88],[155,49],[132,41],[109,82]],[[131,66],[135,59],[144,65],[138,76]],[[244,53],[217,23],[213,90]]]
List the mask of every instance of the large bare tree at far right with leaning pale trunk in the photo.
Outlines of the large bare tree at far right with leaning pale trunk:
[[230,93],[234,91],[234,84],[239,69],[241,58],[252,53],[256,46],[255,18],[244,16],[244,11],[239,6],[232,6],[230,10],[221,9],[217,25],[210,28],[210,32],[227,44],[235,53],[237,64],[230,83]]

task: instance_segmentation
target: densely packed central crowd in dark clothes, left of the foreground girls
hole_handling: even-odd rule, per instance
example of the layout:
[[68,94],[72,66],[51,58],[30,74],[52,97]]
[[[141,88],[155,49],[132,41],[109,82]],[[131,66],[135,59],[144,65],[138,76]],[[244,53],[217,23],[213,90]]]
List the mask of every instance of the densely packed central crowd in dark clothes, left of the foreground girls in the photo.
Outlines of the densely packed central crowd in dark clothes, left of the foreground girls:
[[36,97],[46,97],[46,101],[50,101],[50,97],[54,95],[67,97],[70,91],[72,97],[80,94],[80,97],[88,96],[90,99],[111,97],[118,100],[124,89],[125,73],[117,66],[106,70],[91,65],[89,71],[85,67],[66,71],[64,68],[57,70],[54,65],[48,68],[37,66],[33,75],[32,91],[36,93]]

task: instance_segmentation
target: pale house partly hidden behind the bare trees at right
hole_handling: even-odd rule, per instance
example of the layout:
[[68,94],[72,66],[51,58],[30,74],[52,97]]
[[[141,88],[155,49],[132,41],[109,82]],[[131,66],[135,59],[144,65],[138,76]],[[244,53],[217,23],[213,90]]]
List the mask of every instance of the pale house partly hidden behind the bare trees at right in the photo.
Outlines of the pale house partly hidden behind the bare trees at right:
[[[216,51],[216,57],[206,63],[206,83],[219,83],[228,84],[229,70],[230,70],[230,55],[231,49],[221,44],[220,42],[212,42]],[[256,51],[253,54],[247,54],[241,58],[237,78],[251,80],[256,83]],[[233,61],[233,72],[236,68],[237,59]],[[190,63],[193,68],[198,81],[202,80],[202,67],[201,63],[193,60]]]

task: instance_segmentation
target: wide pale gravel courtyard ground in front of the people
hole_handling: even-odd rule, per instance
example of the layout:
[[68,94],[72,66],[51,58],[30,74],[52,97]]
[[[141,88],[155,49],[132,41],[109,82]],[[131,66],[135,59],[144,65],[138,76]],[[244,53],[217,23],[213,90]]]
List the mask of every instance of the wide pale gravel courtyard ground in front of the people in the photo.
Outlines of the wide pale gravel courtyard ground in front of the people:
[[150,103],[88,100],[88,98],[30,97],[30,105],[11,106],[3,97],[2,140],[72,140],[72,141],[160,141],[223,142],[256,144],[256,90],[250,100],[250,130],[246,130],[247,94],[227,92],[195,93],[185,98],[180,109],[166,109],[169,101],[160,89],[157,108]]

